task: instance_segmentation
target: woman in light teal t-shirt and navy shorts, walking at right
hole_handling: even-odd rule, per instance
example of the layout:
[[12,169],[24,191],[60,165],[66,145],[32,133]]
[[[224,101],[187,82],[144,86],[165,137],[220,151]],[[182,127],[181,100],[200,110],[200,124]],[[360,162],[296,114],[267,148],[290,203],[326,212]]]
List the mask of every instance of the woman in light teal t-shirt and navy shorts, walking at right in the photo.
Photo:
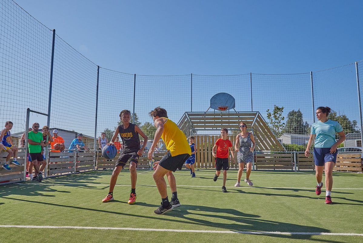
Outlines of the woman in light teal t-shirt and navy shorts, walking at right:
[[[305,156],[309,156],[311,144],[314,142],[314,164],[315,164],[315,177],[317,179],[317,186],[315,190],[316,195],[321,194],[323,187],[323,171],[325,171],[325,203],[331,204],[331,188],[333,187],[333,168],[337,162],[337,147],[345,140],[345,134],[342,126],[338,122],[329,120],[327,117],[330,113],[329,107],[318,107],[316,116],[319,122],[311,125],[311,132]],[[340,138],[335,141],[335,134],[338,133]]]

